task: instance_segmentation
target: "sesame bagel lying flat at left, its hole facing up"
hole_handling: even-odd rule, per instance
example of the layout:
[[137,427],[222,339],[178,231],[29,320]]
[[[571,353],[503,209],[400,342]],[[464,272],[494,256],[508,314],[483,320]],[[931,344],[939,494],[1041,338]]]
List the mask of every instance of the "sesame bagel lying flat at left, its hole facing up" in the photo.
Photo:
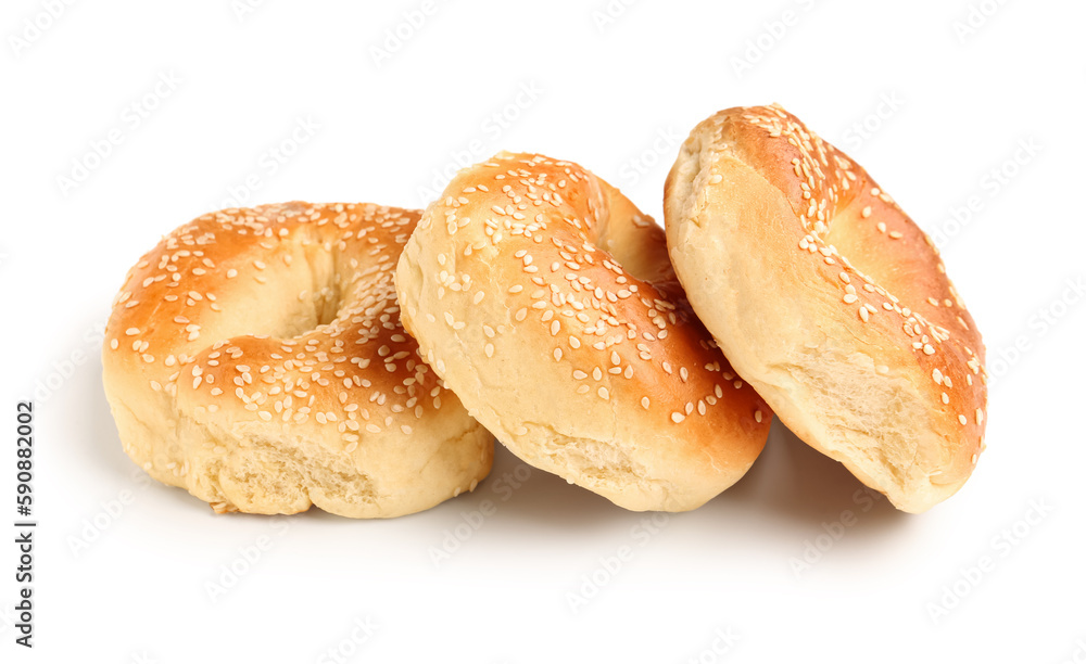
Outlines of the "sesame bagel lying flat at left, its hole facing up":
[[105,330],[128,456],[217,512],[396,516],[473,489],[493,439],[400,323],[393,269],[418,218],[295,202],[164,238]]

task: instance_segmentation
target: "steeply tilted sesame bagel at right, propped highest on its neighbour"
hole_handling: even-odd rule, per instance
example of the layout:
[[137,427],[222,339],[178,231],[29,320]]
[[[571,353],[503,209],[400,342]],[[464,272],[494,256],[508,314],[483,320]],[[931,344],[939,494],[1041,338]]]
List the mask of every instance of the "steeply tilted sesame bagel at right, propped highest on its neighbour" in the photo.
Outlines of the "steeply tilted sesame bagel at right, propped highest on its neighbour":
[[665,190],[694,310],[781,421],[899,509],[962,486],[984,438],[984,345],[931,240],[776,106],[722,111]]

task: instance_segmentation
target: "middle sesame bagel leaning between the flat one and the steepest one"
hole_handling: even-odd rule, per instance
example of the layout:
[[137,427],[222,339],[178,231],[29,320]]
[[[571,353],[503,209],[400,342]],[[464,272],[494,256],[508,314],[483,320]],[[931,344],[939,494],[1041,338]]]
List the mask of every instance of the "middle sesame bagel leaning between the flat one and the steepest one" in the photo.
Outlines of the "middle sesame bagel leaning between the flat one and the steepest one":
[[462,170],[400,258],[426,360],[518,457],[631,510],[696,508],[771,412],[690,312],[662,230],[569,162]]

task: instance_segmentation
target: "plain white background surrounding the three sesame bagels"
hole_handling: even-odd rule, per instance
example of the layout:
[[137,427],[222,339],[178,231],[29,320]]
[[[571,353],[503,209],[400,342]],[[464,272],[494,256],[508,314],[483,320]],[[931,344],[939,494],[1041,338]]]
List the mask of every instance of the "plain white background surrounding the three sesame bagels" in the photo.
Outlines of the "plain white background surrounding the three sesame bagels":
[[[4,2],[0,660],[1086,657],[1086,299],[1069,286],[1086,277],[1081,2],[239,8]],[[929,513],[868,502],[779,423],[741,483],[662,527],[542,472],[495,484],[519,467],[501,448],[473,495],[372,522],[216,516],[123,454],[99,330],[126,269],[176,226],[231,197],[421,206],[456,159],[500,149],[578,161],[658,216],[690,128],[773,101],[939,238],[984,333],[988,451]],[[27,652],[10,625],[11,502],[15,403],[36,393]],[[496,513],[435,564],[488,499]],[[601,562],[621,547],[629,560]],[[213,601],[230,565],[243,573]],[[574,611],[572,593],[593,597]]]

